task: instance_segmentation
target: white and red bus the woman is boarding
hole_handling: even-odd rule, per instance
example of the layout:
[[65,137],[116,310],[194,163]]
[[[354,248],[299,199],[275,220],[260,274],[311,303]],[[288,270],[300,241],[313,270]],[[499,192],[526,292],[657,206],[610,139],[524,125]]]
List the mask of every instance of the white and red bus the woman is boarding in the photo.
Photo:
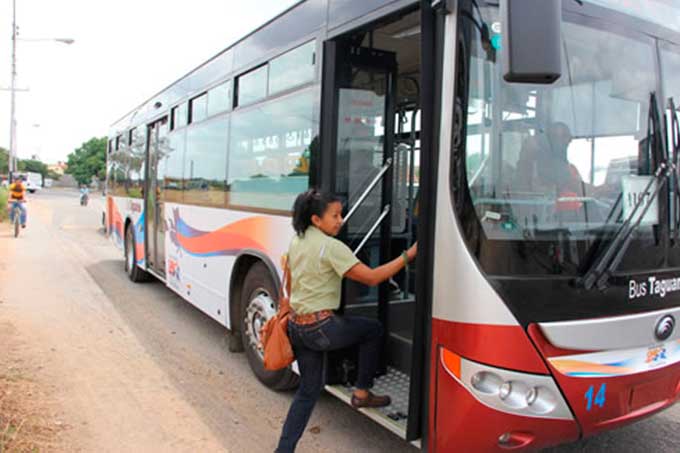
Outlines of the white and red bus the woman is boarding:
[[680,395],[678,95],[674,2],[303,1],[113,124],[107,231],[286,389],[258,332],[295,196],[332,191],[365,262],[419,241],[345,283],[387,332],[362,412],[430,452],[574,441]]

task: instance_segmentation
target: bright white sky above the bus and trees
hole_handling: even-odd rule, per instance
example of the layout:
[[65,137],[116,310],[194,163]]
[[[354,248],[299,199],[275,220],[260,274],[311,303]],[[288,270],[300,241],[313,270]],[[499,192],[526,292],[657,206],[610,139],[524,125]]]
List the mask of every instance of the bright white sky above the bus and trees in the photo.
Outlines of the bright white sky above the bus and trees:
[[[297,0],[16,0],[17,154],[66,156]],[[0,0],[0,87],[11,81],[12,0]],[[10,92],[0,91],[9,149]]]

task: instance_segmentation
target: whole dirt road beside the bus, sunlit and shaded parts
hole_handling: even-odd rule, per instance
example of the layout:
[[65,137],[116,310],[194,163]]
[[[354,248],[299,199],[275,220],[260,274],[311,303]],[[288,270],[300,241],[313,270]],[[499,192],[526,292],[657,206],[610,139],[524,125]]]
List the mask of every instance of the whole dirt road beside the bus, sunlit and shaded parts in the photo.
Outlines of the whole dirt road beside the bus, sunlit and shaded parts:
[[[18,239],[0,224],[0,389],[36,416],[41,451],[273,451],[292,394],[260,385],[224,329],[162,284],[129,282],[102,206],[45,191]],[[551,451],[680,451],[678,432],[676,406]],[[416,450],[325,395],[299,451]]]

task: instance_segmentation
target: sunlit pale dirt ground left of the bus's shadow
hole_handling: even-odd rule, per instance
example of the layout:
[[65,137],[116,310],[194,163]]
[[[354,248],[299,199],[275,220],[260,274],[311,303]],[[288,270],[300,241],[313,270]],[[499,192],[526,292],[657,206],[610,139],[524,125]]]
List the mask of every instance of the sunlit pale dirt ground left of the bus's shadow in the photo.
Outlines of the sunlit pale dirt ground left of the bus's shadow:
[[19,238],[0,224],[0,451],[228,450],[87,273],[120,259],[97,207],[47,197]]

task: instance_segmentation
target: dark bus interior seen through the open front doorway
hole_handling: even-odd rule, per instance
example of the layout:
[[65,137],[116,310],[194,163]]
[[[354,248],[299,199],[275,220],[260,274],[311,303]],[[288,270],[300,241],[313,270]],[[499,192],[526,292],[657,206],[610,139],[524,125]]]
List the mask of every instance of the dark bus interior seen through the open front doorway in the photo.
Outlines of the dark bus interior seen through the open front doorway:
[[[332,45],[335,59],[326,64],[334,66],[333,190],[346,206],[340,238],[364,263],[376,267],[399,257],[417,237],[420,12],[402,12],[354,30]],[[346,280],[341,307],[345,315],[383,324],[381,376],[374,391],[390,395],[392,404],[366,413],[405,438],[417,322],[415,281],[415,263],[380,287]],[[356,348],[329,354],[331,393],[349,401],[357,363]]]

